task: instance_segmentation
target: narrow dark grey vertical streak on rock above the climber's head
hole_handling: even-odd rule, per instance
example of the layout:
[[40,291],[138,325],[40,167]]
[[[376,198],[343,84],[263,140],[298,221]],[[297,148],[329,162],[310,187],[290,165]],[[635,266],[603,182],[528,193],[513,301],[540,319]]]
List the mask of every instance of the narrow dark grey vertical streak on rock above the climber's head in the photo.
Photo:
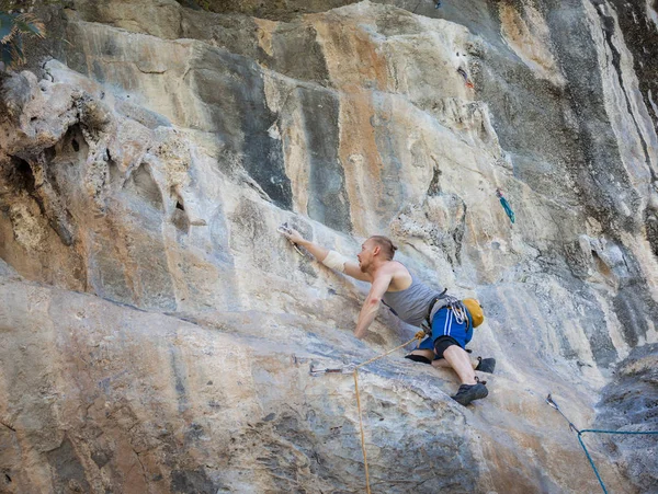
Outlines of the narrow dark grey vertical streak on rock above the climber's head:
[[310,158],[308,216],[349,233],[352,230],[350,204],[338,156],[338,97],[329,91],[300,89],[299,99]]

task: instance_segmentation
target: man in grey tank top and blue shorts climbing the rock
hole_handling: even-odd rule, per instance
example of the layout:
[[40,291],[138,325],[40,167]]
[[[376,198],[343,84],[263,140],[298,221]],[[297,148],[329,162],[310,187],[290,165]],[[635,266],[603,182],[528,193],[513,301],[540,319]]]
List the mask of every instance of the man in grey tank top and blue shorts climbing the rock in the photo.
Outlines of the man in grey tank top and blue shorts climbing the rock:
[[462,405],[489,394],[475,370],[492,372],[496,360],[487,358],[479,359],[477,365],[472,364],[465,351],[473,335],[468,309],[461,301],[446,297],[445,290],[440,292],[422,284],[401,263],[394,261],[397,248],[388,238],[368,238],[361,245],[356,263],[304,239],[296,230],[285,228],[280,231],[327,267],[372,285],[359,313],[354,336],[361,340],[366,335],[382,302],[408,324],[420,326],[423,321],[429,320],[432,335],[426,337],[407,358],[435,367],[452,368],[462,382],[452,398]]

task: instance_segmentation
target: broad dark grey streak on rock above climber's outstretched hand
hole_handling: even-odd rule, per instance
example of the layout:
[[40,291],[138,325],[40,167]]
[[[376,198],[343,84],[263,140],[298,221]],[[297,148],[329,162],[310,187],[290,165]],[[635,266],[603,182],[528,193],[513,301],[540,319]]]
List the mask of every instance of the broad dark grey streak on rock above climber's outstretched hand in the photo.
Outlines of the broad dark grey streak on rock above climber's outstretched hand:
[[193,85],[209,108],[215,131],[243,156],[243,166],[279,207],[292,209],[283,147],[268,130],[276,114],[266,106],[262,73],[248,58],[205,49],[194,62]]

